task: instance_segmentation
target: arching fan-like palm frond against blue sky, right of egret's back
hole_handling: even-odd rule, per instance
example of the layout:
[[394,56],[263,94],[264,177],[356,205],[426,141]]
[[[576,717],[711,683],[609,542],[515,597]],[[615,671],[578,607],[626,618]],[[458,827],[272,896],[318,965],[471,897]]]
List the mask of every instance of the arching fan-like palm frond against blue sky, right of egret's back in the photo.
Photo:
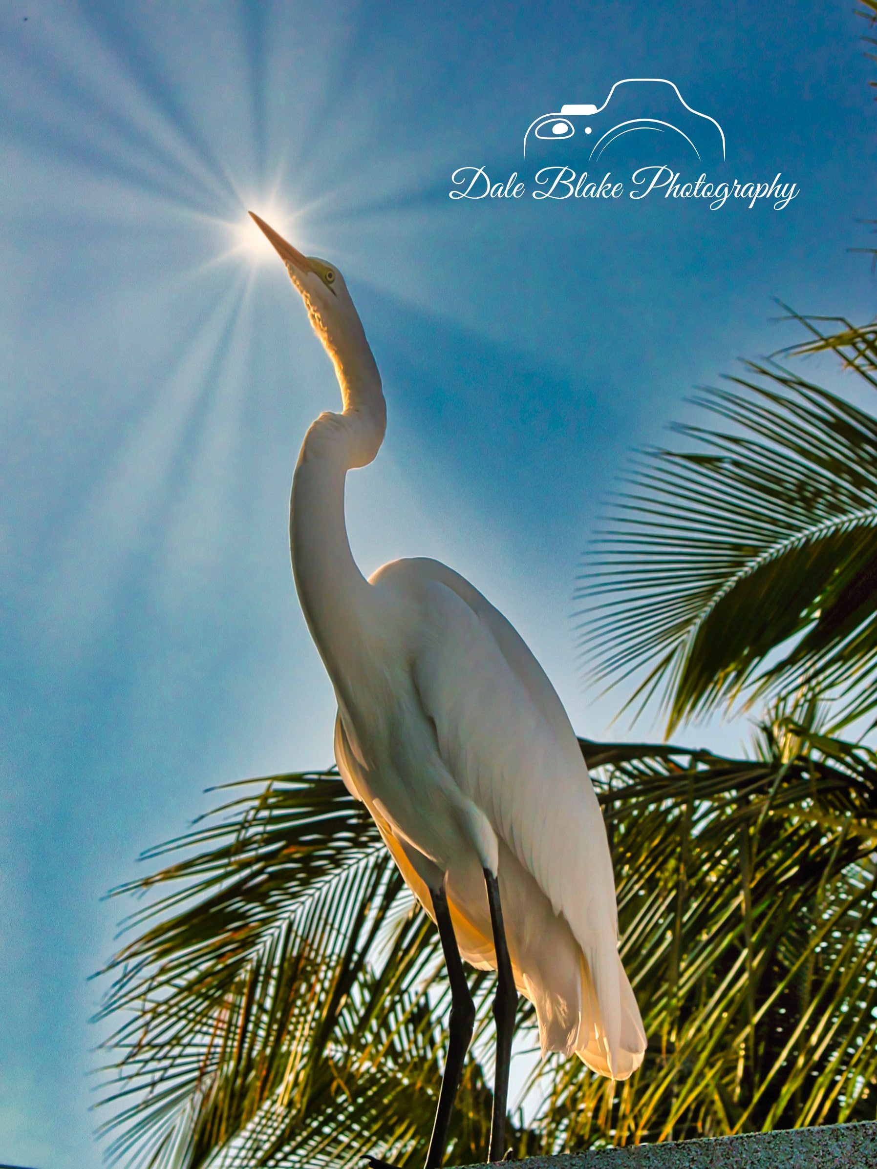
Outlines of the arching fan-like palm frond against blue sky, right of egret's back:
[[719,420],[675,428],[695,450],[642,457],[580,577],[593,676],[644,671],[630,701],[657,693],[668,731],[803,683],[877,704],[877,420],[748,369],[695,397]]

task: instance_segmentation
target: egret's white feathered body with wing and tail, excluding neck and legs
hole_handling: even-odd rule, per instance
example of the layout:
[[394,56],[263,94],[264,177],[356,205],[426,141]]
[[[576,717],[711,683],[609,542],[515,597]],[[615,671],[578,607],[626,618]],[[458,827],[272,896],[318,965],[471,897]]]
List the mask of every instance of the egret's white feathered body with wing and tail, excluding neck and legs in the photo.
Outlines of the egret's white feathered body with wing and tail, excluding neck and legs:
[[430,878],[447,873],[460,952],[482,969],[496,969],[483,869],[498,874],[543,1050],[627,1079],[645,1038],[600,805],[560,699],[505,617],[444,565],[399,560],[370,586],[367,663],[336,682],[344,782],[427,912]]

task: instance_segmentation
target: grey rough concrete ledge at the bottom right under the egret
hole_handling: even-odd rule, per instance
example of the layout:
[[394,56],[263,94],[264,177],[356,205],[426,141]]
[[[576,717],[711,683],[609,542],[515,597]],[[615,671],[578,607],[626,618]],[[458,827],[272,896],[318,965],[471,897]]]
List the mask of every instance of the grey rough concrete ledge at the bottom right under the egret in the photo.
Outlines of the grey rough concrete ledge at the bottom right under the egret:
[[[877,1121],[526,1157],[520,1169],[877,1169]],[[486,1169],[472,1165],[471,1169]]]

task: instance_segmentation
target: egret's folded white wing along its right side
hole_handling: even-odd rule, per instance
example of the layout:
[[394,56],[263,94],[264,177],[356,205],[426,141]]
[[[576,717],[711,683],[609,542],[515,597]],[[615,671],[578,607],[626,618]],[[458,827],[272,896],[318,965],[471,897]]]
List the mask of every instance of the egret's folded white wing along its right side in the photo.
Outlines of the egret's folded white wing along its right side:
[[606,828],[560,699],[512,625],[443,565],[398,561],[374,582],[417,603],[413,675],[442,762],[568,922],[593,980],[608,1070],[623,1074],[624,1052],[641,1053],[644,1037],[617,955]]

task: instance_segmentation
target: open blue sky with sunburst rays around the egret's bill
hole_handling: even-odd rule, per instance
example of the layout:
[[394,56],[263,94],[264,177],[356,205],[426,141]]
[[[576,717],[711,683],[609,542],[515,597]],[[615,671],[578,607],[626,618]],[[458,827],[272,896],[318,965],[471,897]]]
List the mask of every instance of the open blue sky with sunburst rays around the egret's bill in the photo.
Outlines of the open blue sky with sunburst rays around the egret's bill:
[[[622,735],[571,614],[628,452],[796,339],[772,297],[873,314],[847,250],[875,216],[864,32],[850,0],[2,6],[0,1161],[99,1163],[87,978],[125,912],[103,894],[205,788],[331,760],[286,506],[337,390],[247,208],[341,268],[384,373],[387,441],[348,483],[362,568],[446,560],[582,734]],[[630,136],[599,175],[623,198],[534,200],[526,127],[624,77],[721,124],[709,179],[800,194],[630,200],[663,161]],[[526,191],[449,199],[468,166]]]

